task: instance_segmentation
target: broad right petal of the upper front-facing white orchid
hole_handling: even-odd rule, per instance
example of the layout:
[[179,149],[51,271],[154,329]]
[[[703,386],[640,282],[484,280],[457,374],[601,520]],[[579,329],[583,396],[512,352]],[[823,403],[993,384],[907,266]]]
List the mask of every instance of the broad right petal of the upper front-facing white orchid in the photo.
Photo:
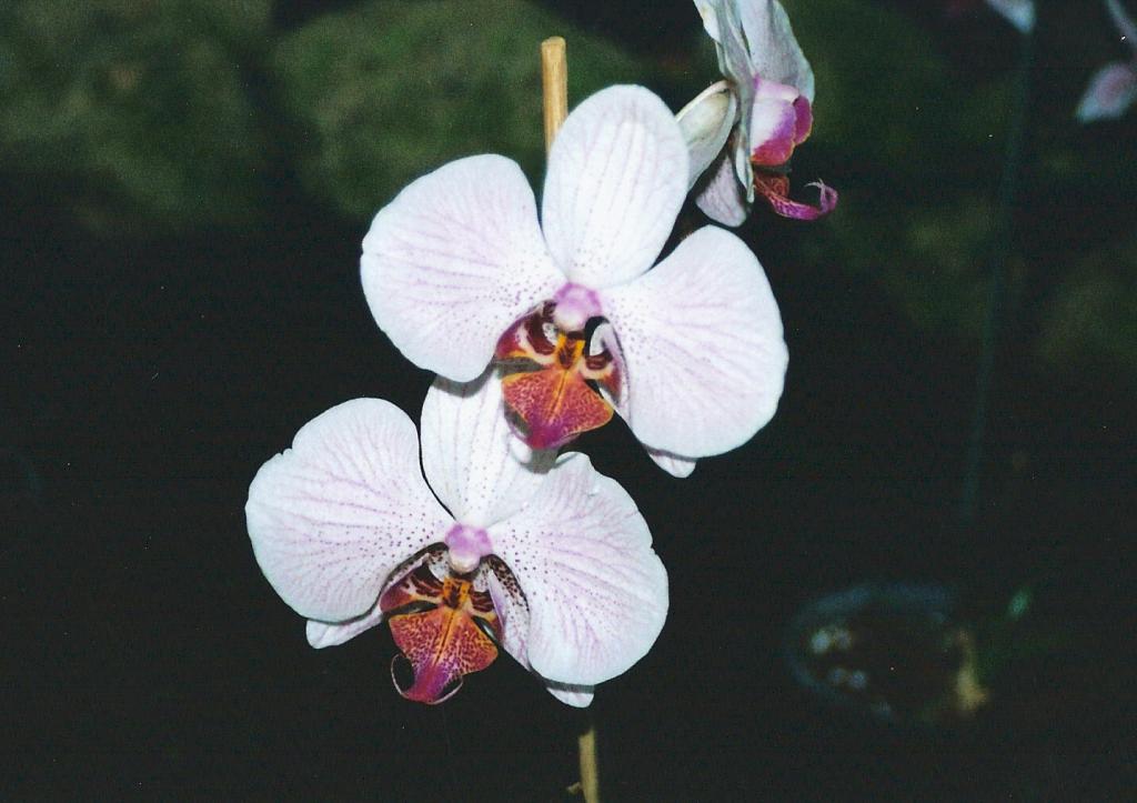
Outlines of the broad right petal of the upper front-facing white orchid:
[[628,423],[688,458],[728,452],[774,414],[786,374],[770,283],[737,237],[705,226],[646,276],[606,290],[628,371]]

